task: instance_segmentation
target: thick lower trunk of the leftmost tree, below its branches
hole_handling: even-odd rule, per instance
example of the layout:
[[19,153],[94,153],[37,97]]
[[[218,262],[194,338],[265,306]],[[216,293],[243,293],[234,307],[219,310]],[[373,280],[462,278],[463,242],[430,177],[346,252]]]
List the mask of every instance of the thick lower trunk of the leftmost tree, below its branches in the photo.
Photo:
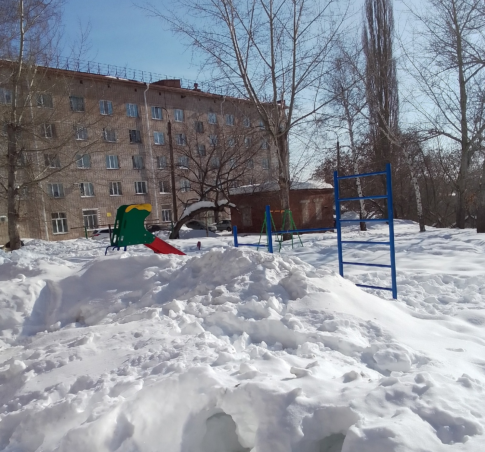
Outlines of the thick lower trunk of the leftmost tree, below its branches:
[[17,168],[16,160],[17,153],[17,136],[16,130],[11,124],[7,125],[7,220],[8,220],[8,238],[10,241],[10,249],[20,249],[20,234],[18,231],[18,207],[16,205],[17,198]]

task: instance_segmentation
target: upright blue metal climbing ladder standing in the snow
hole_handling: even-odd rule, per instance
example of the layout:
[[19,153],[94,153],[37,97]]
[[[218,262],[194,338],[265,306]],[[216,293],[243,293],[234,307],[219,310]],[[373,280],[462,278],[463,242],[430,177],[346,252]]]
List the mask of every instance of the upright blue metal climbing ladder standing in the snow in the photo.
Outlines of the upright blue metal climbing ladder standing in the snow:
[[[377,176],[380,174],[386,175],[386,194],[377,196],[354,196],[352,198],[340,198],[339,196],[339,181],[342,179],[354,179],[357,177]],[[386,164],[386,171],[367,172],[363,174],[353,174],[351,176],[339,176],[337,171],[334,171],[334,190],[335,190],[335,223],[337,228],[337,249],[339,254],[339,273],[343,277],[343,265],[364,265],[370,267],[384,267],[391,269],[392,287],[370,286],[367,284],[356,284],[359,287],[367,287],[370,289],[382,289],[392,292],[392,298],[397,299],[397,283],[396,283],[396,252],[394,248],[394,210],[392,207],[392,181],[391,181],[391,165]],[[388,218],[371,218],[371,219],[341,219],[340,218],[340,203],[345,201],[357,201],[361,199],[386,199],[388,203]],[[389,225],[389,241],[388,242],[373,242],[360,240],[342,240],[342,223],[360,223],[361,221],[378,222],[387,221]],[[364,262],[347,262],[343,260],[342,244],[366,244],[366,245],[389,245],[390,250],[390,265],[384,264],[369,264]]]

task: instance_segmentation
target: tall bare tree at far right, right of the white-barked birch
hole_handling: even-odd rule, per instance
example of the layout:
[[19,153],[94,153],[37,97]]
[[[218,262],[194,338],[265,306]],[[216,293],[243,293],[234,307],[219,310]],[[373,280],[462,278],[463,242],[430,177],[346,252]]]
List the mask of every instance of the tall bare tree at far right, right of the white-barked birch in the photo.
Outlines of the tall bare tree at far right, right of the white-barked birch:
[[480,121],[485,4],[481,0],[430,0],[420,9],[410,8],[410,13],[417,23],[408,54],[419,88],[414,104],[422,116],[423,130],[460,148],[454,178],[456,226],[464,228],[469,166],[485,130]]

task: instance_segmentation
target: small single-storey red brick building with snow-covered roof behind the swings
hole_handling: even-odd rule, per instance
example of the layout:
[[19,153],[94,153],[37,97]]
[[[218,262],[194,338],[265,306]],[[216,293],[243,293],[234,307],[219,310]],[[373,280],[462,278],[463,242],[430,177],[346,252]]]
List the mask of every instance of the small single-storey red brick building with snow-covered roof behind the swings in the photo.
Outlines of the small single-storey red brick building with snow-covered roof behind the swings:
[[[280,210],[279,190],[275,184],[244,186],[234,189],[231,202],[238,209],[231,210],[231,222],[238,233],[260,233],[266,205]],[[334,215],[334,189],[330,184],[305,182],[293,184],[290,189],[290,208],[298,229],[331,228]],[[272,213],[278,230],[282,214]]]

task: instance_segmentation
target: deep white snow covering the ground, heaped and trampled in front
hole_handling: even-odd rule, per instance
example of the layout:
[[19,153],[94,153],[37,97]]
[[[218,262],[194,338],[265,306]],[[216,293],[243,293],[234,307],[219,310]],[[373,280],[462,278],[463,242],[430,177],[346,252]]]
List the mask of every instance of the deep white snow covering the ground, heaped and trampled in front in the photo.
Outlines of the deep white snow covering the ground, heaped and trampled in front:
[[353,284],[387,270],[336,274],[332,233],[0,251],[0,450],[485,451],[485,235],[417,230],[396,224],[398,301]]

